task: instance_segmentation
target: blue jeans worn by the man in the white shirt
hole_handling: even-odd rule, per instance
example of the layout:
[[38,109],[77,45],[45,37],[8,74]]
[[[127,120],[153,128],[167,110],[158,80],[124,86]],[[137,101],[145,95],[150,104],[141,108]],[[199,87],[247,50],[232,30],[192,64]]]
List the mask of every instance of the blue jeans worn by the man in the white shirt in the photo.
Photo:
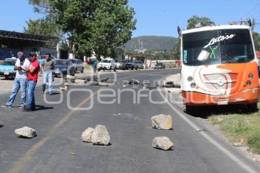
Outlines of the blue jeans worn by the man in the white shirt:
[[25,106],[25,104],[26,104],[26,79],[24,79],[24,78],[20,78],[20,79],[14,78],[13,89],[12,89],[9,100],[6,102],[7,106],[13,105],[13,101],[20,88],[21,88],[21,98],[22,98],[21,107]]

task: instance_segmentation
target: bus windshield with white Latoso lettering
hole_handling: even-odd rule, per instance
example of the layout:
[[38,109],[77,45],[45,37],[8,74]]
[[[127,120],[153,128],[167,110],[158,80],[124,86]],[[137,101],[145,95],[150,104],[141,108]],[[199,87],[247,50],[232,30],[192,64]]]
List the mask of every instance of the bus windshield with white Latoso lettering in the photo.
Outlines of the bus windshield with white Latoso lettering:
[[248,29],[221,29],[182,35],[183,64],[246,63],[254,60]]

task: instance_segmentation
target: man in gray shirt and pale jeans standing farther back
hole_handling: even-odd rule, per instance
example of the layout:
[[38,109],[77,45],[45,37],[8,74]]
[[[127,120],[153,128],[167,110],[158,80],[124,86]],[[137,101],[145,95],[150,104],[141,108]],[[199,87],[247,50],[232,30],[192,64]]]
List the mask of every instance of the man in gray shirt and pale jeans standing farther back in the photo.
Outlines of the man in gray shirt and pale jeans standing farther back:
[[54,61],[50,59],[50,53],[46,54],[46,59],[43,60],[43,84],[42,84],[42,94],[46,88],[46,81],[49,82],[49,90],[46,94],[52,95],[52,70],[54,69]]

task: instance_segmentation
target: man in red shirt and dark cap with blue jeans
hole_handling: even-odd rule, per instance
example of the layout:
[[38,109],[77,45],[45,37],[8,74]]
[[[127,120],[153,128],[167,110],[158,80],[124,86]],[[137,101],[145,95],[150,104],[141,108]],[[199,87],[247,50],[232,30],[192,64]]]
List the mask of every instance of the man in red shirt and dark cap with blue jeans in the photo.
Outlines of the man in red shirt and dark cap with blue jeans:
[[34,89],[38,79],[38,72],[40,69],[39,61],[37,61],[37,55],[35,52],[30,53],[32,62],[29,67],[24,69],[25,72],[28,72],[27,77],[27,87],[28,87],[28,104],[27,108],[23,111],[35,111],[35,99],[34,99]]

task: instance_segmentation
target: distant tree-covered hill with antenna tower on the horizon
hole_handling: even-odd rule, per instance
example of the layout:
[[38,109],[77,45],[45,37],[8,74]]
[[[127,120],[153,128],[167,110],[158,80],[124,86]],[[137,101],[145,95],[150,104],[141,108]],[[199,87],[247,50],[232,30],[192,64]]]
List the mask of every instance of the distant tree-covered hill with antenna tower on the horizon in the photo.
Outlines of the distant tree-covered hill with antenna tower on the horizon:
[[173,50],[176,38],[166,36],[140,36],[129,40],[124,50]]

